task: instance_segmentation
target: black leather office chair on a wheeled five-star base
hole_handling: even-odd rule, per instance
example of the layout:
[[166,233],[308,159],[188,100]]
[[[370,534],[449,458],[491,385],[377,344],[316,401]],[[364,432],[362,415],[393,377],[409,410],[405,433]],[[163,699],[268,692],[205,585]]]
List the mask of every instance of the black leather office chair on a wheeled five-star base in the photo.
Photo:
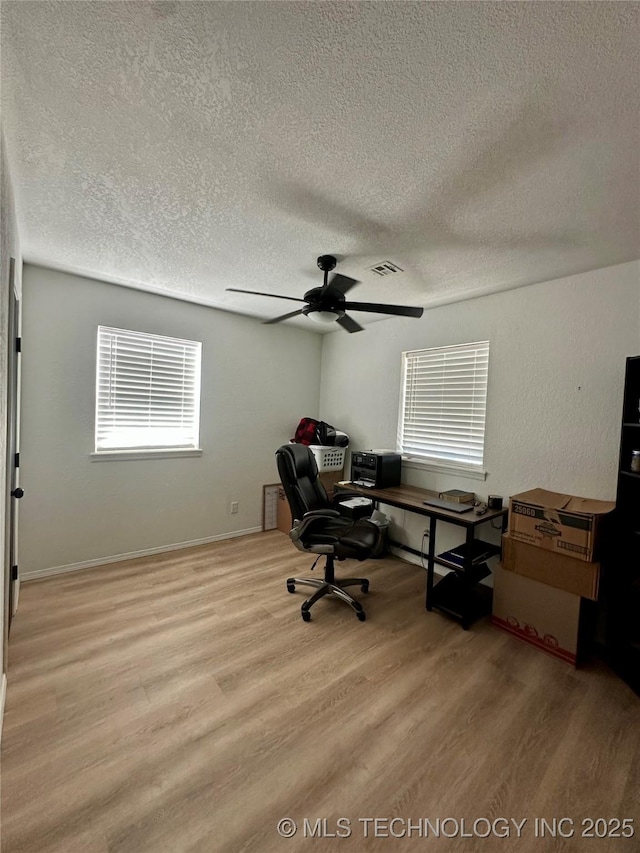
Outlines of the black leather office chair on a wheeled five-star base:
[[[339,500],[328,499],[318,477],[318,466],[313,452],[304,444],[285,444],[276,450],[278,473],[291,507],[293,529],[289,534],[296,548],[311,554],[326,555],[324,580],[319,578],[287,578],[287,589],[295,592],[296,584],[312,586],[316,592],[301,607],[305,622],[311,620],[311,607],[325,595],[334,595],[346,602],[356,612],[361,622],[366,619],[359,601],[345,591],[347,586],[359,585],[362,592],[369,591],[367,578],[336,580],[334,560],[353,558],[366,560],[380,544],[381,532],[366,518],[353,520],[340,515]],[[338,507],[336,509],[335,507]],[[320,559],[316,558],[312,568]]]

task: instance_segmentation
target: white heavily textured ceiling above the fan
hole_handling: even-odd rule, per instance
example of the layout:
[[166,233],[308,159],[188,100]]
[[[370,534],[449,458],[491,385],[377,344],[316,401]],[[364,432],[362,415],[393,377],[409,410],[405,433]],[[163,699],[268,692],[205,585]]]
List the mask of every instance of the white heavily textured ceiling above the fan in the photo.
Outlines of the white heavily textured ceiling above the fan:
[[4,0],[25,259],[267,318],[224,288],[301,296],[323,253],[424,306],[638,258],[639,13]]

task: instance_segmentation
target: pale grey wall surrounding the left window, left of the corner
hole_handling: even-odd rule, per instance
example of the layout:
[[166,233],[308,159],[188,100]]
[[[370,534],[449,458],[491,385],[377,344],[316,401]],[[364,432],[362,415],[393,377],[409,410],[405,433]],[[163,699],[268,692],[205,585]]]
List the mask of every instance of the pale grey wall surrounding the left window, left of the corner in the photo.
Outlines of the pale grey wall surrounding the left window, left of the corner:
[[[22,576],[260,528],[320,336],[29,265],[23,288]],[[90,460],[99,324],[203,342],[201,457]]]

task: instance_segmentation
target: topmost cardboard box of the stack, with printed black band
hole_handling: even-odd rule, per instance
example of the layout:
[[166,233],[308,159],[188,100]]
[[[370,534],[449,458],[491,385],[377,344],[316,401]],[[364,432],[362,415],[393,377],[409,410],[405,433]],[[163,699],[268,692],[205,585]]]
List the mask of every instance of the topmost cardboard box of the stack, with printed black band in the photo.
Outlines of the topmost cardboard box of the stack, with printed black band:
[[509,536],[528,545],[591,562],[598,528],[613,501],[577,498],[546,489],[531,489],[509,501]]

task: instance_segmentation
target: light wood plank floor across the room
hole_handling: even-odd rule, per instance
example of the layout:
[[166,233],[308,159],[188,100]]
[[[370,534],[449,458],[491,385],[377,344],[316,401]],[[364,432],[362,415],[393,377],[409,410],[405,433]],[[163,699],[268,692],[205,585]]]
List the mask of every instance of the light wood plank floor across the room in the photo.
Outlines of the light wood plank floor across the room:
[[[325,600],[306,624],[284,580],[310,564],[272,531],[25,584],[3,853],[640,850],[626,685],[427,613],[422,569],[391,557],[338,566],[370,578],[366,622]],[[304,837],[305,818],[352,834]],[[425,838],[424,818],[527,823],[519,840]],[[535,818],[576,836],[536,838]],[[636,835],[583,839],[584,818],[632,818]]]

